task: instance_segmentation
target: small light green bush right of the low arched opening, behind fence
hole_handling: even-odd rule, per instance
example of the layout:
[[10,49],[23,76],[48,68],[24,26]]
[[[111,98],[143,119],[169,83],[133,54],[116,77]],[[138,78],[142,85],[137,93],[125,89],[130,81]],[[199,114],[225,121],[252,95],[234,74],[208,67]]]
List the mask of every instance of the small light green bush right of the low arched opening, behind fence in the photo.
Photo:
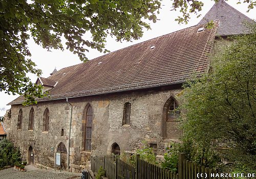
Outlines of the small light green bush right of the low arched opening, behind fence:
[[136,153],[140,154],[140,159],[151,164],[158,164],[153,148],[148,147],[145,141],[143,141],[142,144],[142,147],[136,150]]

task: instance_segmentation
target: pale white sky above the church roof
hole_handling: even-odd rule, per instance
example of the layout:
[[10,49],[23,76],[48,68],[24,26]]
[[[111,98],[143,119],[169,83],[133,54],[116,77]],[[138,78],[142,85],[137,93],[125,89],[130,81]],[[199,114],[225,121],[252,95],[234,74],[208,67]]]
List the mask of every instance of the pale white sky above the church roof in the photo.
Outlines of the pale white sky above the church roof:
[[[163,0],[162,3],[162,9],[160,10],[160,14],[157,15],[157,18],[160,20],[157,20],[157,23],[153,23],[152,21],[149,24],[151,25],[151,30],[144,30],[143,37],[141,37],[139,40],[132,40],[132,42],[117,42],[115,41],[115,38],[111,38],[110,36],[106,39],[106,49],[110,50],[111,52],[131,46],[133,44],[146,41],[164,34],[172,33],[177,30],[181,30],[187,27],[191,27],[194,25],[197,25],[201,18],[210,10],[210,8],[214,5],[214,1],[210,0],[202,0],[204,3],[204,6],[202,8],[202,11],[200,11],[200,14],[202,14],[201,17],[196,18],[196,15],[191,14],[191,18],[189,19],[188,24],[182,24],[179,25],[177,21],[175,21],[175,18],[178,15],[181,15],[179,11],[171,11],[172,3],[169,0]],[[251,19],[256,19],[256,9],[252,9],[249,12],[246,12],[248,10],[247,4],[237,4],[237,0],[229,0],[227,3],[237,9],[238,11],[242,12],[243,14],[247,15]],[[75,65],[78,63],[81,63],[77,55],[74,55],[69,50],[60,51],[60,50],[52,50],[51,52],[48,52],[46,49],[43,49],[42,47],[38,46],[33,39],[28,40],[28,47],[32,54],[31,59],[36,63],[36,68],[42,70],[41,77],[47,78],[50,76],[50,73],[56,68],[57,70],[60,70],[62,68],[65,68],[67,66]],[[103,53],[98,52],[95,49],[89,49],[90,52],[87,53],[87,57],[89,60],[94,59],[96,57],[99,57],[103,55]],[[37,77],[32,74],[28,74],[32,82],[35,82]],[[7,95],[4,92],[0,93],[0,116],[4,116],[6,113],[6,110],[9,109],[11,106],[6,105],[7,103],[11,102],[18,96],[13,95]]]

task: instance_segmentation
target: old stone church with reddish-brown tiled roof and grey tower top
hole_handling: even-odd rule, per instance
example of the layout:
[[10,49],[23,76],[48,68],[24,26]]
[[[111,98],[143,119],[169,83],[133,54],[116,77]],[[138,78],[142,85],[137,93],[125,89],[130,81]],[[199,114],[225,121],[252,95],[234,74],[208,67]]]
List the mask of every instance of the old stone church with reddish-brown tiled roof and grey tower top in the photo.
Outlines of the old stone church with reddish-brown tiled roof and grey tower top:
[[227,36],[248,33],[245,21],[254,23],[219,1],[196,26],[38,77],[49,96],[30,106],[23,96],[11,101],[7,138],[30,164],[54,168],[61,152],[72,172],[88,168],[92,154],[132,151],[142,141],[162,154],[181,135],[182,84],[208,72]]

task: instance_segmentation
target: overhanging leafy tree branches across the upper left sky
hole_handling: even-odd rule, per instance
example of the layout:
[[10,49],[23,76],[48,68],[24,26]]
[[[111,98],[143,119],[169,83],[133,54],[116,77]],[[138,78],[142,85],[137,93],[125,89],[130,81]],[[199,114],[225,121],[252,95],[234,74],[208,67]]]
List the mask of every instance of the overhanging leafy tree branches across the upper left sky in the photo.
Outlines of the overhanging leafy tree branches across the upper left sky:
[[[244,2],[249,3],[249,8],[255,6],[253,1]],[[184,16],[178,17],[179,23],[186,23],[189,13],[197,13],[202,6],[195,0],[173,0],[174,10],[181,8]],[[142,19],[156,23],[160,7],[158,0],[1,0],[0,92],[25,94],[25,104],[44,96],[42,87],[26,77],[27,73],[41,74],[29,58],[26,40],[30,37],[50,51],[63,50],[63,36],[67,49],[87,61],[84,53],[89,52],[88,48],[108,52],[104,49],[108,34],[117,41],[140,38],[142,29],[150,28]],[[92,40],[84,39],[86,33],[92,34]]]

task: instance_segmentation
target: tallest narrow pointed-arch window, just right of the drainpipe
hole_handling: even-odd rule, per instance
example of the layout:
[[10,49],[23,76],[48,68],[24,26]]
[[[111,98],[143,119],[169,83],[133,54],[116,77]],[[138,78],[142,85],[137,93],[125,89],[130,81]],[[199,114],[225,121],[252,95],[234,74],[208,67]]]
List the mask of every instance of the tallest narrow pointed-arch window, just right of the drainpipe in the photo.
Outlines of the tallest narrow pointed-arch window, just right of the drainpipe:
[[87,104],[83,110],[82,119],[82,147],[83,150],[91,151],[92,143],[92,122],[93,122],[93,109],[90,104]]

